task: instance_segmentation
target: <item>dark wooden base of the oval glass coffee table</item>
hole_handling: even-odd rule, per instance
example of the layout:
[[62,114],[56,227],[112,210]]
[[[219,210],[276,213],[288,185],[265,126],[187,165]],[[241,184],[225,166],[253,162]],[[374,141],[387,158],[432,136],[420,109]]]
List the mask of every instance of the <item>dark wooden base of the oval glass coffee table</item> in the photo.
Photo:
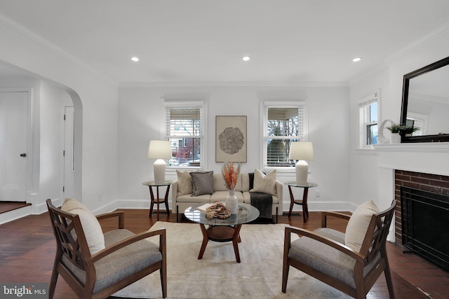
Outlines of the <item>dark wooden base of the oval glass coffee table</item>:
[[199,260],[203,258],[203,254],[204,251],[206,251],[206,246],[208,245],[209,240],[214,242],[232,241],[232,246],[234,246],[234,253],[236,255],[237,263],[240,263],[239,243],[241,242],[241,224],[235,226],[210,225],[210,227],[206,229],[204,224],[200,223],[199,227],[201,228],[201,232],[203,233],[203,243],[201,244],[201,249],[198,256]]

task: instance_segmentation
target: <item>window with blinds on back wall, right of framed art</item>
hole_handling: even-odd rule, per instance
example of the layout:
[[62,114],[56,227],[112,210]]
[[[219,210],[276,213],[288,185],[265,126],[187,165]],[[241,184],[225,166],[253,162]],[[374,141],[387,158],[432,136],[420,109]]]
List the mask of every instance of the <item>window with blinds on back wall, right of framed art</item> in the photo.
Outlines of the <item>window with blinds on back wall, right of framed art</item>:
[[306,141],[305,102],[264,102],[264,168],[295,167],[290,142]]

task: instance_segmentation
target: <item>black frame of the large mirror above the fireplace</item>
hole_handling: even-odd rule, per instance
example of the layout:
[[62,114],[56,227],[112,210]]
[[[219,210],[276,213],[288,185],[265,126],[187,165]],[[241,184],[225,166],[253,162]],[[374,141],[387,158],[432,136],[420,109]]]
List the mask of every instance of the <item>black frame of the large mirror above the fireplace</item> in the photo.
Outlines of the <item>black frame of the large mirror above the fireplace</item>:
[[[426,74],[429,71],[434,71],[440,67],[449,65],[449,57],[442,60],[438,60],[432,64],[412,71],[404,75],[403,89],[402,89],[402,109],[401,109],[401,125],[406,125],[407,120],[407,106],[408,106],[408,87],[410,85],[410,79]],[[449,134],[436,134],[436,135],[422,135],[422,136],[401,136],[401,142],[448,142]]]

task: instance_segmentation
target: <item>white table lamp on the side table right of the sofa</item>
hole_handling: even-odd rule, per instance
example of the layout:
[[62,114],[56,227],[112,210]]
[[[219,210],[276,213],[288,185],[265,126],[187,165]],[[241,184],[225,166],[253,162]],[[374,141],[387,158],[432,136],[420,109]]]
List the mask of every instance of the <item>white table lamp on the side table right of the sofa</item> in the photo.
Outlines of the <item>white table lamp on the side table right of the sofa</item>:
[[304,160],[314,160],[314,147],[311,142],[297,141],[290,143],[288,160],[297,160],[295,165],[296,183],[307,183],[309,165]]

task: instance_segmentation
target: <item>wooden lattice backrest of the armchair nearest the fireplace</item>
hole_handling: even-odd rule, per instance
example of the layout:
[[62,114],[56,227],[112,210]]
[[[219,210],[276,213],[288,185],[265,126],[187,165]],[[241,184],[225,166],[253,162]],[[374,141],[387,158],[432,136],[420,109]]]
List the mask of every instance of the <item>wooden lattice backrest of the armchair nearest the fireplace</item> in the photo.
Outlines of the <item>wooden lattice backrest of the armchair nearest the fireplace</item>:
[[396,200],[393,200],[388,209],[373,214],[371,217],[370,225],[360,249],[361,255],[366,256],[365,265],[371,263],[379,254],[384,254],[387,235],[394,215],[394,207],[396,207]]

